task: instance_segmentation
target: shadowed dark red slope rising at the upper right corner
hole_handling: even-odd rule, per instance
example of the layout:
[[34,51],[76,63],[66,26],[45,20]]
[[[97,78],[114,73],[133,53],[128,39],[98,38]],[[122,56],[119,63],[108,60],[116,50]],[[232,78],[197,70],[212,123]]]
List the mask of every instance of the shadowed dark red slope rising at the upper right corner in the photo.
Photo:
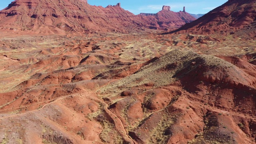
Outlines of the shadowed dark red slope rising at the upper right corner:
[[177,31],[195,33],[236,31],[254,22],[256,22],[256,0],[228,0],[222,6],[182,26]]

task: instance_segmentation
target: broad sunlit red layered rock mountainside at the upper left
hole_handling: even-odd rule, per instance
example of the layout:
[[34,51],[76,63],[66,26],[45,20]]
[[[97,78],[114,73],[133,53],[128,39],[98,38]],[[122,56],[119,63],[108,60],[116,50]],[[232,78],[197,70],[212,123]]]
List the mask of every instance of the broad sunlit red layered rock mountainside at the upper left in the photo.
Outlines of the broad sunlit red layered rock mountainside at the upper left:
[[90,6],[87,0],[15,0],[0,11],[0,30],[64,34],[139,28],[134,14],[116,6]]

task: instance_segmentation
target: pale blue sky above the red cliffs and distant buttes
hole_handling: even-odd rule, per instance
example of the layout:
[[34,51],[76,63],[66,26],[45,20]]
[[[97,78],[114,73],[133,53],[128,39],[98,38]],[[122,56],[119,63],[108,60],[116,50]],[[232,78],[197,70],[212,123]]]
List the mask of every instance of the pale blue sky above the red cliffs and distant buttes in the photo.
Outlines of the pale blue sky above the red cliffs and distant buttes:
[[[4,9],[14,0],[0,0],[0,9]],[[186,6],[186,12],[191,14],[206,14],[210,10],[224,4],[228,0],[88,0],[88,3],[106,7],[108,4],[115,5],[121,2],[121,7],[134,14],[157,13],[162,6],[171,6],[171,10],[178,12]]]

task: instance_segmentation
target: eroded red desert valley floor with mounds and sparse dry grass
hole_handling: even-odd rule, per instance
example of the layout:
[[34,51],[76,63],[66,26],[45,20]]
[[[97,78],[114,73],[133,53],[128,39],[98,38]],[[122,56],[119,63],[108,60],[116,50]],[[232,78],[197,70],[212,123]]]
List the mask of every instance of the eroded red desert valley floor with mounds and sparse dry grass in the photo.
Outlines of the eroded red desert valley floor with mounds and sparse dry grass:
[[254,143],[256,40],[1,38],[2,143]]

